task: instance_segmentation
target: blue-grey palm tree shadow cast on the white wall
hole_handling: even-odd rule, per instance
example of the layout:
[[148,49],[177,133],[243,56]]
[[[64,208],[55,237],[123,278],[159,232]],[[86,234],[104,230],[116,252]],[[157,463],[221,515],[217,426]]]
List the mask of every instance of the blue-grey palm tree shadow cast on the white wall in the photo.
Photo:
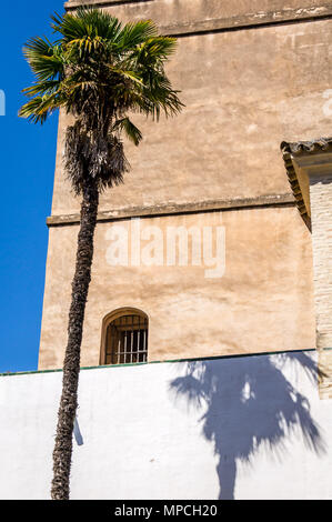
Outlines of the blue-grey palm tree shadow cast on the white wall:
[[187,363],[187,373],[170,383],[175,396],[203,406],[203,435],[218,455],[219,499],[234,499],[237,465],[253,462],[261,446],[282,459],[286,440],[298,430],[306,449],[320,454],[325,444],[311,416],[309,400],[282,369],[304,371],[318,382],[315,362],[303,352]]

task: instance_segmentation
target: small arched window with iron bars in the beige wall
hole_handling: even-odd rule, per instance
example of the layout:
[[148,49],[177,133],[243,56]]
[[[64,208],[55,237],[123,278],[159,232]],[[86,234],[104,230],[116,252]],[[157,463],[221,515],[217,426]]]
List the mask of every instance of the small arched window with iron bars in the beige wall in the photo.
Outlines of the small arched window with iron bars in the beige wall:
[[104,364],[148,361],[148,318],[125,313],[113,319],[105,331]]

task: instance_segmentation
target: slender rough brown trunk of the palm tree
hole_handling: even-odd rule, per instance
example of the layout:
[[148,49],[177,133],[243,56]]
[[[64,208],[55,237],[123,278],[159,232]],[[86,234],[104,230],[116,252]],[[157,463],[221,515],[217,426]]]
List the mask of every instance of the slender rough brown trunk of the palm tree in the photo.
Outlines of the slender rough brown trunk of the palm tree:
[[90,178],[83,190],[76,273],[72,280],[68,344],[63,361],[62,395],[58,412],[57,436],[53,451],[52,500],[69,499],[72,433],[78,406],[81,342],[85,303],[91,279],[98,203],[98,187],[95,181]]

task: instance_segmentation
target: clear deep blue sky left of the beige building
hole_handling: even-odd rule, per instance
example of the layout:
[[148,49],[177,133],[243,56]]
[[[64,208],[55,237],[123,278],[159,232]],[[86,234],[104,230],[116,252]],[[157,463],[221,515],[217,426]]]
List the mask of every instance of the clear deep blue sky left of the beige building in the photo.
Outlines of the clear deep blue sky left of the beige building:
[[21,89],[32,82],[22,46],[34,36],[51,37],[50,14],[63,0],[17,0],[1,6],[0,89],[0,372],[36,370],[48,247],[58,117],[44,126],[18,118]]

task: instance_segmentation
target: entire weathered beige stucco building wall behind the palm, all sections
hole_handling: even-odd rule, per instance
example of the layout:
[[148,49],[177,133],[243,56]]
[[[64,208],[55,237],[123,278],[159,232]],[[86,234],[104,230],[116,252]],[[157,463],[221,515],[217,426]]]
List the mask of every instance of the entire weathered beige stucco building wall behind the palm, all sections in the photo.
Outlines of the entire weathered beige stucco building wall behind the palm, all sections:
[[[324,16],[331,6],[306,0],[286,7],[263,0],[111,3],[107,9],[123,21],[153,18],[165,32],[181,34],[169,74],[182,90],[185,109],[158,124],[133,117],[144,141],[138,149],[125,143],[131,172],[122,187],[102,194],[100,211],[128,217],[160,213],[161,207],[182,205],[184,212],[185,205],[192,211],[193,205],[210,203],[215,209],[221,201],[237,207],[250,198],[291,197],[280,142],[330,134],[332,21],[273,23],[309,13]],[[272,24],[243,28],[258,22]],[[230,26],[238,30],[229,31]],[[220,30],[185,34],[209,29]],[[80,208],[62,169],[67,123],[61,114],[56,221]],[[295,208],[248,208],[142,222],[165,230],[219,220],[227,231],[227,269],[213,280],[204,278],[203,267],[112,268],[105,261],[111,223],[98,223],[83,365],[99,363],[102,319],[120,307],[148,313],[150,360],[315,345],[311,235]],[[77,232],[77,224],[50,228],[41,369],[62,364]]]

